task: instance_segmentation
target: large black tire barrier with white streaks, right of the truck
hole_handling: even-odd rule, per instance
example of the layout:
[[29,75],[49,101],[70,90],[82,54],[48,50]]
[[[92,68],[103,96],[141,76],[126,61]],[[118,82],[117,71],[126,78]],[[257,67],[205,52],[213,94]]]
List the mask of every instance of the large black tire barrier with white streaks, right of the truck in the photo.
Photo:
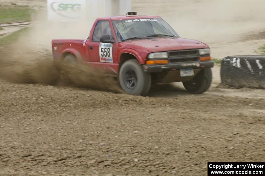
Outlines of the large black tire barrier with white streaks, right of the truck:
[[265,89],[265,55],[228,56],[222,59],[221,82],[235,88]]

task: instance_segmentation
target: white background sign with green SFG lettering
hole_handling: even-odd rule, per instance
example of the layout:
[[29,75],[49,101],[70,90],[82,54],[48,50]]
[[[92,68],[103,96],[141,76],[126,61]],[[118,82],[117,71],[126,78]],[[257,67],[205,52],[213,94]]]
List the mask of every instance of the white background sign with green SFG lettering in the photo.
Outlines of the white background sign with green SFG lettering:
[[75,22],[86,19],[86,0],[47,0],[48,20]]

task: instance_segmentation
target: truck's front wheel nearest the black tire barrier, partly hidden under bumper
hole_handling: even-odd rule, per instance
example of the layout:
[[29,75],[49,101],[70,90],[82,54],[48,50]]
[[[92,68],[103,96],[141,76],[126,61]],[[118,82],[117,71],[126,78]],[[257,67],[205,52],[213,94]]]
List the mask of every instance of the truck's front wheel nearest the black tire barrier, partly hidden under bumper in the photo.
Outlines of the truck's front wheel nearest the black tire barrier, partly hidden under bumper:
[[188,82],[183,82],[183,86],[189,93],[204,93],[212,83],[212,69],[204,68]]

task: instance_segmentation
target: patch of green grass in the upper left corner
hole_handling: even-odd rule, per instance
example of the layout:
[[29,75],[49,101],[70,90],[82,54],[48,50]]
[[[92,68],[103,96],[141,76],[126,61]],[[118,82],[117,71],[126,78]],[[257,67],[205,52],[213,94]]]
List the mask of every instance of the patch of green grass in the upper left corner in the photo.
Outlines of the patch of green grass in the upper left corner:
[[0,6],[0,24],[17,21],[30,21],[33,10],[29,6]]

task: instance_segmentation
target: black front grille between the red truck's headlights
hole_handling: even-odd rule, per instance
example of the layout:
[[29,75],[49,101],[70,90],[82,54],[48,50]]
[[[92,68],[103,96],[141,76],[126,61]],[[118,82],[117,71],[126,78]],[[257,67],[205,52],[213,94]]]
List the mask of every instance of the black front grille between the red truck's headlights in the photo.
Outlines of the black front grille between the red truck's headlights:
[[170,63],[196,62],[200,60],[199,50],[168,51],[168,59]]

